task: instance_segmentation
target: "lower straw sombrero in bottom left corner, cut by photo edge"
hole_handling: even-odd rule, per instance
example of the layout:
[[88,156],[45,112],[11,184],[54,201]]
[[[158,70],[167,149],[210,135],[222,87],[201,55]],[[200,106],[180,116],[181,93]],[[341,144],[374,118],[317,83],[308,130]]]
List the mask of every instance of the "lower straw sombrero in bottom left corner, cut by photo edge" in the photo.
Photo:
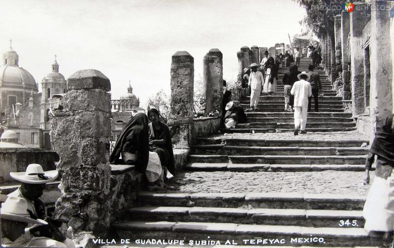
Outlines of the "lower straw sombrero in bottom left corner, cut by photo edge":
[[14,220],[25,223],[33,224],[48,224],[44,220],[33,220],[30,218],[28,212],[28,202],[24,198],[9,196],[4,203],[1,204],[1,219],[4,220]]

